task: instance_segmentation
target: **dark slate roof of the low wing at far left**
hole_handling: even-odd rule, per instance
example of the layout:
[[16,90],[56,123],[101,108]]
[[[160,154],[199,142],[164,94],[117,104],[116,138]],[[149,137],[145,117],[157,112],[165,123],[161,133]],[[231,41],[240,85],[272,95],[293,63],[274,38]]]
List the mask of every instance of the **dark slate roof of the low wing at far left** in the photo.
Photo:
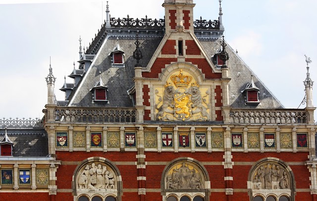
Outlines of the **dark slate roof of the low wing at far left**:
[[[45,129],[7,129],[13,142],[13,157],[46,157],[49,154],[48,134]],[[0,139],[5,129],[0,129]],[[30,143],[30,144],[29,144]]]

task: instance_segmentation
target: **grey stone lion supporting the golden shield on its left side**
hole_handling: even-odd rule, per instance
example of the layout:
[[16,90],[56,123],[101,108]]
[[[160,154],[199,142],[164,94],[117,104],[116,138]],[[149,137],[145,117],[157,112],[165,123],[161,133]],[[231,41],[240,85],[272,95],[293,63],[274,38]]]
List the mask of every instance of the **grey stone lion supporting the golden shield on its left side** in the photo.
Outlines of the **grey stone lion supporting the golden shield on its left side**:
[[[159,110],[157,114],[157,120],[173,120],[174,110],[169,109],[174,108],[174,94],[175,89],[171,83],[166,82],[164,85],[164,93],[163,93],[163,103],[160,107],[156,106],[157,110]],[[159,98],[159,102],[161,101],[161,97]],[[164,113],[165,114],[164,116]]]

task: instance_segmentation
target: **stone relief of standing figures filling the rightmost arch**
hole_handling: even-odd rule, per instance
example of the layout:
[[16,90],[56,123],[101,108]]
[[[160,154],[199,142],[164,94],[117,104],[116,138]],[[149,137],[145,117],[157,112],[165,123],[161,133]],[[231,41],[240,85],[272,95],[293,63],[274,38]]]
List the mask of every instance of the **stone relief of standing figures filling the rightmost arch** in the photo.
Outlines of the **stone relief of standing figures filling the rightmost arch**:
[[261,165],[253,176],[253,188],[261,189],[289,189],[289,175],[278,164]]

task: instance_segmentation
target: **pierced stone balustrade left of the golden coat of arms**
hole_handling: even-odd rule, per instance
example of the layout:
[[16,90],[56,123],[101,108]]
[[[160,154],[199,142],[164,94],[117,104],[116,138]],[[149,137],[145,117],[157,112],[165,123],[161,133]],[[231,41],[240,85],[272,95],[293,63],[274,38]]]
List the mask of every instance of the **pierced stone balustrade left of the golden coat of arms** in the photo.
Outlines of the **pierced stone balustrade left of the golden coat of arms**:
[[134,108],[78,108],[56,107],[55,121],[86,123],[133,123],[136,121]]

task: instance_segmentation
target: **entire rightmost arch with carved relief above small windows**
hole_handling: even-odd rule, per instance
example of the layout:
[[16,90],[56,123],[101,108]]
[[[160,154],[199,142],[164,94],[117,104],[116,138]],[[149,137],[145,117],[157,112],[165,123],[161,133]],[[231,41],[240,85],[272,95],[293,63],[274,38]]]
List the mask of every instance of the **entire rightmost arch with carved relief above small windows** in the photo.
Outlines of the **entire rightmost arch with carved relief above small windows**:
[[279,159],[258,161],[250,170],[249,181],[251,201],[293,201],[295,196],[292,169]]

